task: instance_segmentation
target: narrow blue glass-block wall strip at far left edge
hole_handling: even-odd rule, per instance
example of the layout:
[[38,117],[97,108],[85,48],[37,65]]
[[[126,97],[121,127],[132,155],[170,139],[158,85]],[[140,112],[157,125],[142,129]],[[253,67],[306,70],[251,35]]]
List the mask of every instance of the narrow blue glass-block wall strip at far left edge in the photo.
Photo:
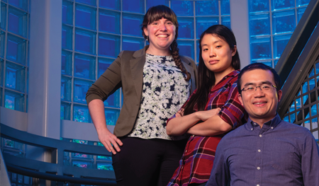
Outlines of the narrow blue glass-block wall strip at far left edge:
[[1,1],[0,105],[26,112],[29,1]]

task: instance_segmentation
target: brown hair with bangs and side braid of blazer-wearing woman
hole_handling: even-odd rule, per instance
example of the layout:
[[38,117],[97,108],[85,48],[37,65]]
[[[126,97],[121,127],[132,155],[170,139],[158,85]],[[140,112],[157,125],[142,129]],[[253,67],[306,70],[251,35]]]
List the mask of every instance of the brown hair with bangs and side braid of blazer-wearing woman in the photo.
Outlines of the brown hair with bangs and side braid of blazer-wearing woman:
[[171,8],[164,5],[152,6],[151,8],[149,8],[147,13],[144,16],[143,23],[141,25],[142,35],[144,39],[146,40],[147,36],[144,33],[144,28],[147,28],[147,25],[161,18],[166,18],[167,20],[172,21],[172,23],[176,27],[175,39],[172,42],[172,44],[169,46],[169,48],[176,66],[181,70],[182,73],[186,75],[185,80],[189,81],[189,79],[191,79],[191,74],[189,74],[189,72],[186,71],[183,63],[181,62],[181,58],[179,57],[179,48],[177,47],[176,40],[179,33],[179,23],[177,22],[177,16],[175,15],[174,11],[172,11]]

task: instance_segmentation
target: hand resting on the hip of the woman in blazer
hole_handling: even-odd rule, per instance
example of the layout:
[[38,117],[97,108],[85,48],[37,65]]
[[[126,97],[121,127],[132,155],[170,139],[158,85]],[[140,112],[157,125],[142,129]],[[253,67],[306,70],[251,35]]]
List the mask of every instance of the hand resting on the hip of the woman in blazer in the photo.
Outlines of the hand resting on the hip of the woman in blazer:
[[119,146],[123,145],[122,141],[111,132],[106,131],[103,133],[99,133],[99,140],[109,152],[116,154],[116,152],[121,151]]

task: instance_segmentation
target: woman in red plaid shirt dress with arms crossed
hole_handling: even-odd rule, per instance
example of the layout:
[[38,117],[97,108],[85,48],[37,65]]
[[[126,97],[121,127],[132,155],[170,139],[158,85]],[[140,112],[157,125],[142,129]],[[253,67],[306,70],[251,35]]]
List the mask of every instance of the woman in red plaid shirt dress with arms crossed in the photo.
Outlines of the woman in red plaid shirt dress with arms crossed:
[[238,99],[240,58],[235,35],[224,25],[213,25],[201,34],[199,43],[197,89],[167,120],[167,134],[191,134],[171,186],[206,185],[220,139],[247,120]]

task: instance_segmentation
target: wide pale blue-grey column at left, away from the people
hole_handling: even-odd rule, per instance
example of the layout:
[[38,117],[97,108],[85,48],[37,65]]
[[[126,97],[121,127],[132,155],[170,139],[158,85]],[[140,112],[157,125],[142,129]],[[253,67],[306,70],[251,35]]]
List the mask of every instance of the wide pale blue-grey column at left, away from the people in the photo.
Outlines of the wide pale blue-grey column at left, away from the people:
[[32,0],[27,132],[60,139],[62,0]]

